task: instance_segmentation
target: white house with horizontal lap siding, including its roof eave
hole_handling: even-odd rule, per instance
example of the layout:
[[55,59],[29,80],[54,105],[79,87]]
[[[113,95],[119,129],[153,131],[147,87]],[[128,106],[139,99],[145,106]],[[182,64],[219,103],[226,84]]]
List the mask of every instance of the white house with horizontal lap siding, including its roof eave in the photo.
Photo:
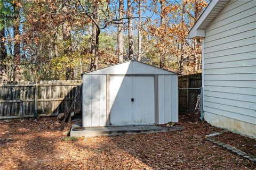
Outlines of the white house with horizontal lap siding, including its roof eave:
[[203,40],[204,119],[256,138],[256,1],[212,0],[188,37]]

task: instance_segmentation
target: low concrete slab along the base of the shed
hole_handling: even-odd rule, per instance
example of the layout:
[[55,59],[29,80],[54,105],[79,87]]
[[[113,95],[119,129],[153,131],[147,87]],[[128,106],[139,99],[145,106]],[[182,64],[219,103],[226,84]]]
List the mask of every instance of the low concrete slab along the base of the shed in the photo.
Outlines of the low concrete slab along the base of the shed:
[[74,128],[81,128],[80,125],[73,124],[70,136],[71,137],[97,137],[97,136],[111,136],[121,134],[139,134],[139,133],[156,133],[156,132],[171,132],[183,130],[182,127],[165,128],[155,125],[143,126],[109,126],[109,127],[92,127],[77,131]]

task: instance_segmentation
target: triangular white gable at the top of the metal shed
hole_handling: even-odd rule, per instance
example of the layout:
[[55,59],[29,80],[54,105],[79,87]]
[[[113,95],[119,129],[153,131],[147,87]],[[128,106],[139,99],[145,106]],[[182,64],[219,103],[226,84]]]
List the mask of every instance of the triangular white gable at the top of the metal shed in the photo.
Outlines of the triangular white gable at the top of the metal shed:
[[159,67],[138,62],[137,60],[129,60],[122,63],[110,65],[102,69],[85,72],[82,74],[177,74]]

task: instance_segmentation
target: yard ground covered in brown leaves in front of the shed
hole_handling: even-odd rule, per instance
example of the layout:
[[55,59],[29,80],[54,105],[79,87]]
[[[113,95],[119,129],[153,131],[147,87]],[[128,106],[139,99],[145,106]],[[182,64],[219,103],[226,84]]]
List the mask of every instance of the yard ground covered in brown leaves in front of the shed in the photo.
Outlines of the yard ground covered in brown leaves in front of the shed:
[[205,140],[220,131],[180,120],[183,131],[64,141],[55,118],[0,123],[0,169],[255,169]]

